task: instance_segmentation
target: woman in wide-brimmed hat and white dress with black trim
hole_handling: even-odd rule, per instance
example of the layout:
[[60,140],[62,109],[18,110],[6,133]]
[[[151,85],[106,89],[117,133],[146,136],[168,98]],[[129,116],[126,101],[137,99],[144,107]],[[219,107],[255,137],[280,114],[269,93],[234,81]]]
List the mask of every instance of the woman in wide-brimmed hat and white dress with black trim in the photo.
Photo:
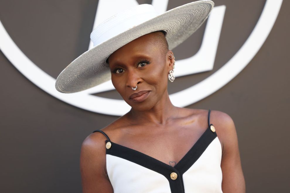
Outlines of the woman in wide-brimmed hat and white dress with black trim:
[[[94,50],[73,61],[57,78],[56,88],[60,92],[77,92],[98,85],[106,79],[105,65],[96,62],[103,58],[115,89],[132,107],[124,116],[93,131],[83,141],[80,167],[84,193],[245,192],[231,117],[220,111],[176,107],[167,91],[168,79],[174,81],[175,57],[171,49],[202,24],[212,6],[212,1],[193,2],[125,31],[120,26],[110,28],[115,34],[100,44],[96,39],[107,34],[96,35],[97,30],[105,29],[104,25],[115,26],[108,24],[114,18],[122,18],[115,15],[92,32],[91,39],[97,42]],[[134,13],[147,15],[146,8],[150,9],[149,5],[125,12],[134,20]],[[208,9],[199,16],[193,14],[192,18],[198,19],[179,23],[175,32],[164,27],[178,18],[198,13],[201,8]],[[166,18],[169,19],[164,24]],[[157,20],[163,28],[156,27]],[[144,26],[155,26],[155,29],[145,32]],[[132,39],[126,39],[128,34]],[[112,42],[108,44],[108,41]],[[110,51],[106,53],[104,48]],[[95,71],[88,67],[90,63],[95,63],[91,64],[95,65]],[[90,74],[89,69],[98,76]],[[79,79],[71,78],[78,73],[83,73]]]

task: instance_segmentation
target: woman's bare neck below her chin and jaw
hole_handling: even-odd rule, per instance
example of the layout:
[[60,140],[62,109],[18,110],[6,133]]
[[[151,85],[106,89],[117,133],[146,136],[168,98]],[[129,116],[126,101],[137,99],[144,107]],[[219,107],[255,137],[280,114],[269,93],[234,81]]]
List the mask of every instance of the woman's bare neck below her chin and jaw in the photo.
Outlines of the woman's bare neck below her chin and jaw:
[[137,123],[165,125],[170,118],[176,115],[176,108],[177,107],[173,106],[171,103],[168,91],[166,90],[163,97],[153,106],[153,108],[146,111],[137,111],[131,108],[128,112],[128,116]]

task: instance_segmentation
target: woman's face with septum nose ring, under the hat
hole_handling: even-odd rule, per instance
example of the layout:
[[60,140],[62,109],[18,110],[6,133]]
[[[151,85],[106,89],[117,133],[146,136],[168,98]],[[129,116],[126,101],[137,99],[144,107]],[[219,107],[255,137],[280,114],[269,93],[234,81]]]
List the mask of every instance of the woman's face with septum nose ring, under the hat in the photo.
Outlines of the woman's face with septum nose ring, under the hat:
[[[168,94],[168,73],[173,65],[169,53],[172,51],[164,50],[160,36],[158,39],[153,32],[122,46],[108,58],[112,83],[133,109],[149,110]],[[137,89],[133,90],[136,85]],[[139,93],[143,95],[137,98],[131,96],[140,91],[144,91]]]

